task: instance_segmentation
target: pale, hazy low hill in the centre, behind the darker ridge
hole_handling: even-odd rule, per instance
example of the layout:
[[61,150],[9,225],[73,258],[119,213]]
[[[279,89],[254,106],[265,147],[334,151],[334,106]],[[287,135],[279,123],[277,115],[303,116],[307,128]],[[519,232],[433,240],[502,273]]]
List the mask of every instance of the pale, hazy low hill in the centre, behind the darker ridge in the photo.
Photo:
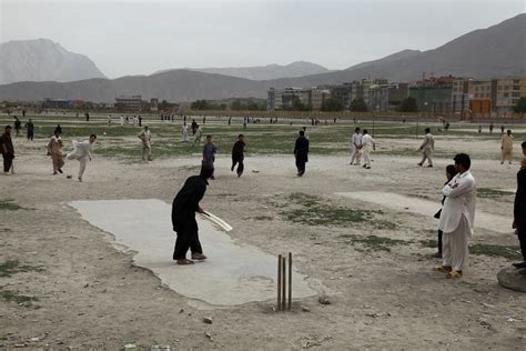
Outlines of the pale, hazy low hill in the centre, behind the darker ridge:
[[[185,70],[215,73],[223,76],[231,76],[237,78],[245,78],[251,80],[270,80],[277,78],[295,78],[303,76],[311,76],[317,73],[330,72],[323,66],[311,63],[306,61],[296,61],[290,64],[267,64],[262,67],[231,67],[231,68],[184,68]],[[158,73],[163,73],[170,70],[162,70]]]

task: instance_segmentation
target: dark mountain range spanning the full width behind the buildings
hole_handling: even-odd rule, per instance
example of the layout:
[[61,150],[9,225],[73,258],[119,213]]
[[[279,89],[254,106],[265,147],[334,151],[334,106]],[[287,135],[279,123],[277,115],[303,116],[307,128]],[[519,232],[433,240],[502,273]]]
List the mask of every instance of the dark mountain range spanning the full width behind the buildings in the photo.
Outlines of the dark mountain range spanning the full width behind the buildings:
[[[224,73],[224,71],[222,71]],[[475,30],[428,51],[403,50],[345,70],[296,78],[250,80],[188,69],[114,80],[74,82],[17,82],[0,86],[0,100],[42,100],[45,97],[113,101],[118,96],[141,94],[169,101],[265,98],[269,88],[337,84],[363,78],[413,81],[423,72],[435,76],[493,78],[526,76],[526,13],[487,29]]]

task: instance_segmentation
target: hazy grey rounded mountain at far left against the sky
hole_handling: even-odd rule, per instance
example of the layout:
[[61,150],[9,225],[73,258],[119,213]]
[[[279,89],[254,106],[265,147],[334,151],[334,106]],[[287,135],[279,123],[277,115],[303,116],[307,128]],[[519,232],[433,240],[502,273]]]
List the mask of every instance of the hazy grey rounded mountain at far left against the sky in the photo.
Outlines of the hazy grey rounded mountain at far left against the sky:
[[88,57],[70,52],[49,39],[0,44],[0,84],[18,81],[75,81],[104,78]]

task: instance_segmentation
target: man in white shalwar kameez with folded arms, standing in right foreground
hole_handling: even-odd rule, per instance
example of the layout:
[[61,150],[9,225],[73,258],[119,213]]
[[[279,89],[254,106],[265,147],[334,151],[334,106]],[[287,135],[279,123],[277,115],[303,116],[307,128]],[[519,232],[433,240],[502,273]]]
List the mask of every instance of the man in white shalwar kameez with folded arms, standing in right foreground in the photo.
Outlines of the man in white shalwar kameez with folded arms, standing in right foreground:
[[468,263],[467,240],[475,223],[475,178],[469,172],[471,159],[458,153],[453,159],[458,173],[444,187],[446,197],[438,229],[443,231],[443,263],[435,270],[447,272],[447,278],[461,278]]

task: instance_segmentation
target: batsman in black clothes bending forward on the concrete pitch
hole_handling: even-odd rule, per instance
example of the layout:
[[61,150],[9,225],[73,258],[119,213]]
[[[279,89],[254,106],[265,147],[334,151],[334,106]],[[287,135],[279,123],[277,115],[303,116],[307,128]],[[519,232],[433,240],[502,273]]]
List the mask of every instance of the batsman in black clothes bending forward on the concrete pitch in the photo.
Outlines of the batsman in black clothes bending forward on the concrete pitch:
[[[172,203],[172,225],[178,233],[173,259],[178,264],[193,264],[194,261],[206,260],[199,241],[199,227],[195,212],[204,213],[199,202],[204,197],[209,179],[213,174],[212,168],[203,167],[199,176],[192,176],[184,182]],[[192,252],[192,260],[186,259],[186,252]],[[194,261],[193,261],[194,260]]]

